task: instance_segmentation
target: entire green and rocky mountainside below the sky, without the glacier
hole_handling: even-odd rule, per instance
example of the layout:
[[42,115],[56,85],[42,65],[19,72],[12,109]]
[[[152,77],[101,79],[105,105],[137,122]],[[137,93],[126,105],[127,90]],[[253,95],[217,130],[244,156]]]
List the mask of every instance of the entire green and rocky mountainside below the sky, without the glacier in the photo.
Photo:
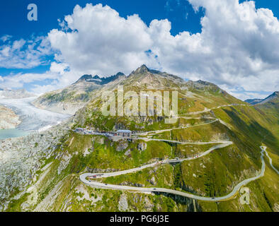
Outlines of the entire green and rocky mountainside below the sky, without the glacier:
[[[101,109],[107,101],[102,93],[110,91],[118,98],[119,86],[123,86],[124,93],[132,92],[124,98],[127,106],[135,104],[133,97],[141,91],[178,92],[177,120],[166,124],[164,119],[169,117],[156,114],[103,115]],[[82,93],[85,98],[80,98]],[[279,210],[279,176],[275,171],[279,167],[278,97],[253,106],[213,83],[184,81],[143,65],[127,77],[83,76],[63,90],[42,95],[36,102],[49,109],[55,106],[55,110],[69,103],[79,102],[82,106],[76,111],[73,107],[74,116],[47,133],[0,143],[6,162],[0,165],[0,185],[9,184],[0,191],[5,211]],[[154,112],[158,106],[159,102],[154,101]],[[151,108],[148,105],[147,112]],[[76,132],[81,129],[96,133]],[[119,129],[132,131],[132,138],[107,135]],[[262,157],[260,146],[266,147],[273,165]],[[9,159],[9,150],[18,151],[21,158],[13,155]],[[184,161],[158,163],[181,159]],[[144,167],[156,162],[154,167]],[[103,189],[81,181],[84,173],[140,167],[138,172],[100,178],[98,182],[104,186],[171,189],[214,200],[227,196],[244,180],[258,177],[263,167],[265,170],[263,177],[245,185],[249,205],[241,204],[239,191],[223,201],[203,201],[156,189],[152,194]]]

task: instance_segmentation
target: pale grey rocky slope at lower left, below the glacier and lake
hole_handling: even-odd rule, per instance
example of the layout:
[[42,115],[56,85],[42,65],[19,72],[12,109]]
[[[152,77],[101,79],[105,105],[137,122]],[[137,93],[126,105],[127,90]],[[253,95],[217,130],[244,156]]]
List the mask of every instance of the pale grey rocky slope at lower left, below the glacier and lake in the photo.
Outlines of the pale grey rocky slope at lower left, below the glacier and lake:
[[0,142],[0,211],[7,207],[15,191],[23,191],[33,182],[43,164],[41,160],[50,158],[67,133],[65,124],[59,124],[42,133]]

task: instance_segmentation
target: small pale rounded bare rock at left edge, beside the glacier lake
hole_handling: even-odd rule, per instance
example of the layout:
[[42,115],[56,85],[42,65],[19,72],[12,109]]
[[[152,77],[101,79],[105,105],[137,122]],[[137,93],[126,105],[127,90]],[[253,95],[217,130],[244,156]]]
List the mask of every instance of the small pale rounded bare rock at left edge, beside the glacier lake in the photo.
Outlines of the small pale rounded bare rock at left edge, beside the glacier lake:
[[19,124],[21,121],[12,110],[0,105],[0,129],[14,129]]

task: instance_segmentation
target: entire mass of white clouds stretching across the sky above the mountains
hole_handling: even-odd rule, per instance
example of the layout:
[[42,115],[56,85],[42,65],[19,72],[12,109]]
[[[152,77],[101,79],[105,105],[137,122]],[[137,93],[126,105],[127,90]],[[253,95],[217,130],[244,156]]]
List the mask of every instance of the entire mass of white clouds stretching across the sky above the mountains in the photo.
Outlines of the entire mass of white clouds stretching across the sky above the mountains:
[[[202,32],[176,36],[171,35],[169,20],[152,20],[146,25],[139,16],[122,18],[109,6],[76,6],[72,15],[59,21],[61,29],[48,34],[58,54],[50,68],[56,82],[45,89],[69,85],[84,73],[130,73],[147,64],[184,78],[216,83],[241,99],[260,90],[278,90],[279,22],[271,10],[256,9],[254,1],[188,1],[196,11],[205,9]],[[22,57],[12,49],[21,49],[22,43],[0,47],[0,66],[5,56],[11,59],[9,64],[21,62]],[[50,49],[47,43],[43,39],[38,48],[42,54]],[[34,43],[29,47],[32,59]],[[21,62],[21,66],[32,66],[30,62],[40,64],[40,57]]]

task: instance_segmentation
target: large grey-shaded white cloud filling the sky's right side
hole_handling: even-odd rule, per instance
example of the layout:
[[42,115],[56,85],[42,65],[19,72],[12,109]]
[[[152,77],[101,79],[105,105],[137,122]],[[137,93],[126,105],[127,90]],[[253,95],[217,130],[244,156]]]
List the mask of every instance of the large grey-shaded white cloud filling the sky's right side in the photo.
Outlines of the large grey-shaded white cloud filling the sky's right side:
[[173,37],[167,21],[150,25],[165,70],[246,90],[278,89],[279,23],[272,11],[256,10],[254,1],[189,1],[205,8],[201,33]]

